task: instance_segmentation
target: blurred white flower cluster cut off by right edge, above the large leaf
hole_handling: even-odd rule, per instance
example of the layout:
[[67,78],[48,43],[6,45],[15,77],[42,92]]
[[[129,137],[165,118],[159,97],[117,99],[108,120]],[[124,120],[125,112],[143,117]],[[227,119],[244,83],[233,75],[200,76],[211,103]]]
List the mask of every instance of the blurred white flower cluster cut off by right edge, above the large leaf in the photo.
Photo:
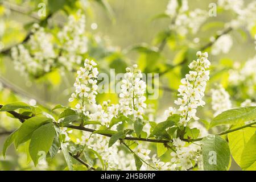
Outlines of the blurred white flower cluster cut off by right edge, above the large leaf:
[[246,61],[242,68],[234,68],[229,71],[229,83],[234,86],[245,85],[247,94],[255,97],[256,84],[256,56]]

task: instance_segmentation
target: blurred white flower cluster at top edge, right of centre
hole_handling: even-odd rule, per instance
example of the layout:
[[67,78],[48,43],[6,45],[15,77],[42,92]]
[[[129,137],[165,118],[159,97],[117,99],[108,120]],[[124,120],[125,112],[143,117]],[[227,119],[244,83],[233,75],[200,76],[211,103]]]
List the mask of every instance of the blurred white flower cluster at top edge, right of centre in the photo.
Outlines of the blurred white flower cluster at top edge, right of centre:
[[[171,0],[167,5],[166,14],[171,18],[176,15],[176,20],[174,24],[170,25],[171,30],[175,30],[178,34],[185,36],[188,32],[196,34],[199,30],[201,24],[205,22],[208,17],[208,12],[201,9],[195,9],[193,11],[188,11],[188,1],[182,1],[182,5],[179,8],[177,0]],[[177,12],[178,10],[178,12]]]

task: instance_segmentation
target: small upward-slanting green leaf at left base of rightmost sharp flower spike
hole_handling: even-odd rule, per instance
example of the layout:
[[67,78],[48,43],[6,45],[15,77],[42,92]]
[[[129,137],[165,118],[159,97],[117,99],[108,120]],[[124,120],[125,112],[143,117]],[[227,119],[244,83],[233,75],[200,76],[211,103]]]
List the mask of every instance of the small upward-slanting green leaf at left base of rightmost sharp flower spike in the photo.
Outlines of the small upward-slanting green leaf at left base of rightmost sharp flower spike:
[[155,126],[155,129],[153,130],[151,135],[170,139],[170,136],[168,135],[166,129],[168,127],[174,126],[179,121],[179,118],[180,115],[174,114],[171,117],[168,117],[166,121],[158,123],[158,125]]

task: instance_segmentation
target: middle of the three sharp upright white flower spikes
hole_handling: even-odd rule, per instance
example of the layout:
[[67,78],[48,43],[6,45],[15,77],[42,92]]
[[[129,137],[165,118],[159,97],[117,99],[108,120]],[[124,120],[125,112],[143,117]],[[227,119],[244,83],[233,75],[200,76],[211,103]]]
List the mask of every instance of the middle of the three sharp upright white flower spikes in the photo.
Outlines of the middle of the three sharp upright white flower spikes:
[[146,83],[142,80],[142,73],[137,69],[126,68],[126,73],[121,84],[121,93],[119,94],[119,110],[124,115],[134,115],[134,118],[143,118],[144,109],[147,105],[144,103],[146,97]]

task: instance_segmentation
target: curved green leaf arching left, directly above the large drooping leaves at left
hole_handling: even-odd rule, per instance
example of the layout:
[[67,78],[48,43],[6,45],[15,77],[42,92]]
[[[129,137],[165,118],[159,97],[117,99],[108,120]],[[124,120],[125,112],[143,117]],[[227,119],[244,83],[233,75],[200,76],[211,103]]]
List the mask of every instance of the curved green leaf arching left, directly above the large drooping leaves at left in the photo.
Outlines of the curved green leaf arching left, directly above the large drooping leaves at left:
[[51,118],[44,117],[43,115],[38,115],[30,119],[27,119],[18,129],[17,137],[15,139],[15,146],[18,147],[19,144],[29,140],[32,136],[32,133],[36,129],[38,129],[43,124],[51,121]]

